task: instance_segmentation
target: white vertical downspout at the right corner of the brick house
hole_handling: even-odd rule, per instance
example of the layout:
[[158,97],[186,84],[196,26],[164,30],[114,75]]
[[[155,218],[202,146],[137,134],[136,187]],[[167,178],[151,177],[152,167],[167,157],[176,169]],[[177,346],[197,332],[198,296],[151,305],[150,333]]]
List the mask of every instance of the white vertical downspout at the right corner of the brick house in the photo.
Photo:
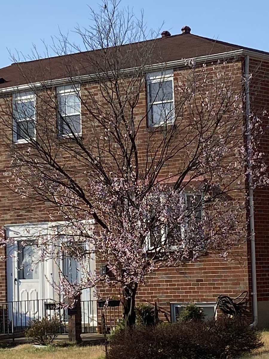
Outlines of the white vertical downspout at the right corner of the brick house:
[[[251,169],[250,156],[251,150],[249,143],[251,141],[250,129],[250,97],[249,97],[249,55],[245,57],[245,93],[246,93],[246,130],[247,130],[247,167]],[[253,323],[258,323],[258,301],[257,301],[257,277],[256,277],[256,254],[255,254],[255,230],[254,230],[254,199],[253,199],[253,178],[251,171],[248,174],[249,185],[249,228],[250,228],[250,245],[251,245],[251,277],[252,277],[252,307],[253,307]]]

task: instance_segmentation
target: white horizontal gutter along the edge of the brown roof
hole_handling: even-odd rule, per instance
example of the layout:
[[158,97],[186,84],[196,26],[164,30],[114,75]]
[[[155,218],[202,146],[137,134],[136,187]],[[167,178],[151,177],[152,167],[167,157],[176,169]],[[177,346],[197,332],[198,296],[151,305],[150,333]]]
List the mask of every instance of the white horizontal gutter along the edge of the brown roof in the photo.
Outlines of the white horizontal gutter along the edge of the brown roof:
[[[246,56],[246,57],[250,56],[251,58],[263,59],[265,61],[269,61],[269,55],[267,54],[245,50],[245,49],[239,49],[234,51],[215,53],[212,55],[192,57],[190,59],[181,59],[181,60],[170,61],[170,62],[162,62],[159,64],[147,65],[144,67],[144,71],[145,73],[147,73],[150,71],[160,71],[164,68],[168,70],[168,69],[174,69],[175,67],[185,67],[186,63],[188,63],[188,61],[190,60],[194,60],[197,64],[203,64],[208,61],[225,60],[225,59],[237,58],[240,56]],[[128,75],[128,74],[132,74],[134,71],[138,69],[139,67],[129,67],[128,69],[123,69],[119,71],[119,73],[122,75]],[[85,83],[89,81],[94,81],[96,79],[100,79],[100,77],[102,76],[104,78],[107,78],[108,76],[113,76],[113,72],[109,71],[109,72],[98,73],[98,74],[87,74],[82,76],[74,76],[74,77],[48,80],[48,81],[38,81],[31,84],[6,87],[0,89],[0,95],[31,90],[33,88],[54,87],[54,86],[61,86],[65,84],[73,84],[76,82]]]

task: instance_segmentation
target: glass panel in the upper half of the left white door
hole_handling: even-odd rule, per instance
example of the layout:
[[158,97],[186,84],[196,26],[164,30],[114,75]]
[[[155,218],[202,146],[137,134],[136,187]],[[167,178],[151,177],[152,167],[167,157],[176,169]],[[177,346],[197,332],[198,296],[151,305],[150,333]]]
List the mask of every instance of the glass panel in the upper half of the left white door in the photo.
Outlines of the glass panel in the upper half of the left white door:
[[19,279],[39,279],[38,248],[33,243],[18,242]]

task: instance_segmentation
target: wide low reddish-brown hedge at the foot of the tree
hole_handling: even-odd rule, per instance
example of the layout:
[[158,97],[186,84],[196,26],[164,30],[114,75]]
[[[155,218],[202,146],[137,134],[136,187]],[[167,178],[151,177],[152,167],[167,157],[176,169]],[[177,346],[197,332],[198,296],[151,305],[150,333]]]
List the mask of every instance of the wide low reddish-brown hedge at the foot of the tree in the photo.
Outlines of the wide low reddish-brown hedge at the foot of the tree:
[[261,346],[260,332],[244,318],[191,320],[119,331],[107,359],[234,359]]

